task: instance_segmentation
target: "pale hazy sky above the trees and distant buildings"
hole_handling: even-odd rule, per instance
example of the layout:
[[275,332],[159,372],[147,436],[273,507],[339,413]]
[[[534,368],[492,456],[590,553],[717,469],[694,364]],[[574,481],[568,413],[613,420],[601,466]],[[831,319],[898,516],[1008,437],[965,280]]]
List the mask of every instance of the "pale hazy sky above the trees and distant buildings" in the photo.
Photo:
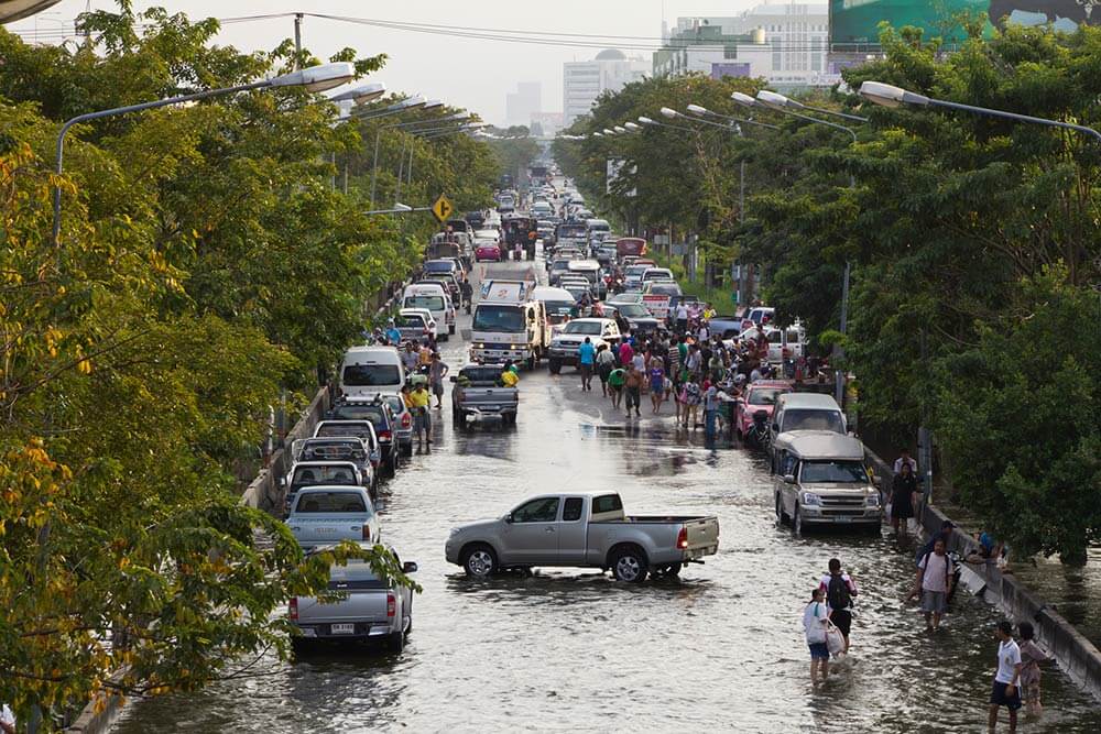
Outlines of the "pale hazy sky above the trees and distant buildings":
[[[9,30],[20,31],[33,40],[34,29],[40,41],[54,40],[62,23],[72,23],[83,12],[87,0],[62,0],[36,18],[14,23]],[[486,39],[456,37],[447,33],[419,33],[384,29],[320,18],[306,18],[303,44],[319,57],[345,46],[352,46],[364,56],[386,53],[390,61],[371,80],[384,81],[391,90],[419,92],[478,112],[491,122],[504,121],[504,97],[515,91],[517,81],[543,84],[543,109],[562,111],[562,64],[592,58],[601,47],[633,44],[643,48],[624,48],[629,56],[650,59],[648,47],[661,39],[662,17],[673,25],[679,15],[731,15],[762,4],[760,0],[184,0],[148,2],[135,0],[134,7],[160,6],[194,18],[240,18],[280,12],[313,12],[402,23],[446,26],[509,29],[537,33],[573,33],[600,37],[571,36],[582,44],[598,47],[537,45]],[[96,9],[112,9],[109,0],[91,0]],[[664,9],[664,10],[663,10]],[[69,25],[70,26],[70,25]],[[219,43],[242,51],[272,48],[293,35],[291,18],[228,24]],[[613,40],[609,36],[636,36],[635,40]],[[538,37],[538,36],[536,36]]]

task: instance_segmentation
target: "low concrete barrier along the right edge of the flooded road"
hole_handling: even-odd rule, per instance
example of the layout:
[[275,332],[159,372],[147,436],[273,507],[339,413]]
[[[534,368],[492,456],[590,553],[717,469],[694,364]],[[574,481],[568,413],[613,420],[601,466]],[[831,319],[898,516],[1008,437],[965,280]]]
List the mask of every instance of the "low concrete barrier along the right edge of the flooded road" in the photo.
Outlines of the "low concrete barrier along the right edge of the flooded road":
[[[891,491],[892,467],[869,451],[868,462],[876,476],[883,478],[883,491]],[[951,519],[934,505],[925,505],[920,512],[922,528],[927,535],[939,533],[945,521]],[[979,543],[970,535],[956,528],[948,541],[948,550],[961,558],[979,554]],[[1003,573],[993,561],[964,563],[963,581],[968,588],[988,603],[998,606],[1016,622],[1032,622],[1047,651],[1059,662],[1059,667],[1071,680],[1101,699],[1101,651],[1061,614],[1025,589],[1012,573]]]

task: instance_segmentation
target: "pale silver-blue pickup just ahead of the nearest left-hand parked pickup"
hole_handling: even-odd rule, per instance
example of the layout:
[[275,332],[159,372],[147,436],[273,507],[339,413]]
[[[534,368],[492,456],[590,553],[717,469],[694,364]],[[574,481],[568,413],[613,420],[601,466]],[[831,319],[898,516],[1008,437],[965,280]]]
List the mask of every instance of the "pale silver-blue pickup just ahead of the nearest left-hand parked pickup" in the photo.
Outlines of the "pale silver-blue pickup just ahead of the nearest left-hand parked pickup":
[[380,536],[379,516],[361,486],[304,486],[285,522],[305,551],[340,540],[378,543]]

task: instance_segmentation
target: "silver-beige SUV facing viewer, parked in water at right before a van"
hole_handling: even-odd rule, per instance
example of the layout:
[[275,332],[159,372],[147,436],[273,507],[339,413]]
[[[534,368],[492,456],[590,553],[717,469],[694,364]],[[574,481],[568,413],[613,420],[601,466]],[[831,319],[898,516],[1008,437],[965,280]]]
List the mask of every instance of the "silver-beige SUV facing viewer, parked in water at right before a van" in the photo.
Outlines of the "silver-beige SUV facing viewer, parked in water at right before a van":
[[860,526],[877,532],[880,493],[859,439],[828,430],[781,434],[773,443],[776,519],[796,533],[809,526]]

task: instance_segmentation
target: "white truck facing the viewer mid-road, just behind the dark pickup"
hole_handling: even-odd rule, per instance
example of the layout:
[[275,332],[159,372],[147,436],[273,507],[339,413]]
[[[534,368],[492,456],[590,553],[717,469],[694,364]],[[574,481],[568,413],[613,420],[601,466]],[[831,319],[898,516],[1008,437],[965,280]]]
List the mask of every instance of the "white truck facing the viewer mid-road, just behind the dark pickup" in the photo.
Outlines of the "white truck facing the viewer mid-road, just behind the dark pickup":
[[475,306],[470,359],[512,361],[534,370],[549,346],[550,325],[542,300],[532,299],[527,281],[487,281]]

